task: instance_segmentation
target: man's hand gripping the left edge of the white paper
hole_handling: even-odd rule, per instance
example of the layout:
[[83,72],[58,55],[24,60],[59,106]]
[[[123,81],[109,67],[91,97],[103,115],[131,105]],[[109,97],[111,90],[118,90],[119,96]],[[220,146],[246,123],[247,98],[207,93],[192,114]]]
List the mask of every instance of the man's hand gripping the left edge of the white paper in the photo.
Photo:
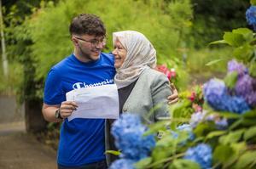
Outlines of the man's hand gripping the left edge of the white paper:
[[73,101],[64,101],[60,106],[60,114],[63,119],[72,115],[73,110],[77,110],[78,105]]

